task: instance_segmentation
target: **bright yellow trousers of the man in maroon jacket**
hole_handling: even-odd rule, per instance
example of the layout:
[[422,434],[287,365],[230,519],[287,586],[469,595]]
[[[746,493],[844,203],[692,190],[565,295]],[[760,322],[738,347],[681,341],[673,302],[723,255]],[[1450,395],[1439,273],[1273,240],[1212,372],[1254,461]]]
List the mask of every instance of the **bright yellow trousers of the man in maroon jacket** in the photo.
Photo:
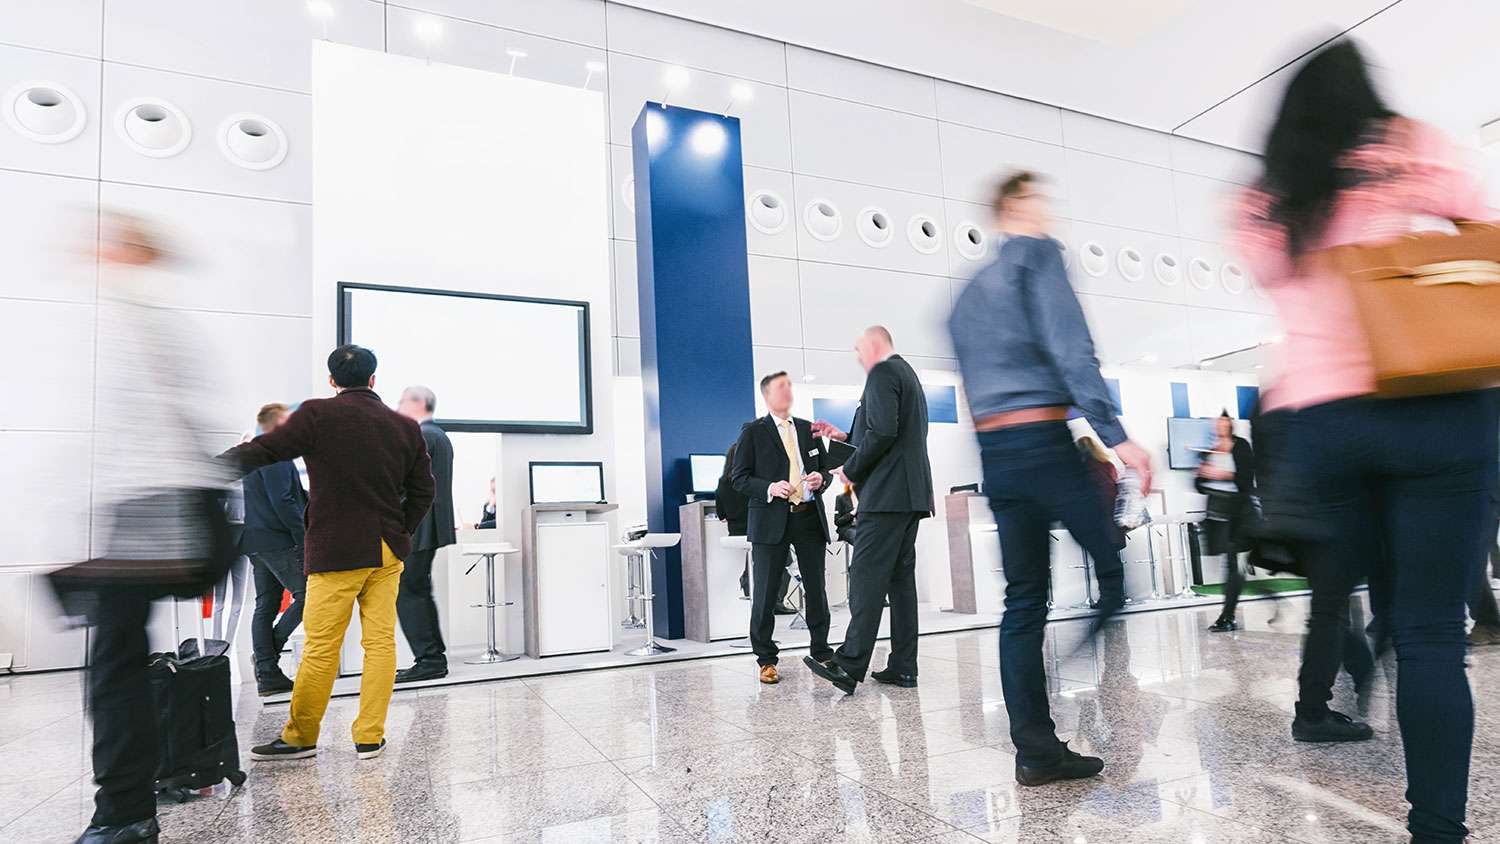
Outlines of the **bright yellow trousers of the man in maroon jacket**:
[[380,744],[386,738],[386,711],[396,687],[396,592],[405,568],[382,541],[380,568],[320,571],[308,576],[302,628],[306,643],[297,682],[291,690],[291,718],[282,741],[296,747],[318,744],[322,714],[328,709],[333,681],[339,673],[339,648],[350,628],[354,604],[360,606],[360,714],[354,718],[354,744]]

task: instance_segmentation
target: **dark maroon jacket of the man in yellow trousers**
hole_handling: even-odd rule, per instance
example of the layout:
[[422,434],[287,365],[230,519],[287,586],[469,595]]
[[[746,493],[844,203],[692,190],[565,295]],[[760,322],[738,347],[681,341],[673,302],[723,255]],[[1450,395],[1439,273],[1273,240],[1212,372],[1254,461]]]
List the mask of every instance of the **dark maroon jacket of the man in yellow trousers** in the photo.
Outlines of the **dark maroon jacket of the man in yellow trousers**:
[[309,574],[380,568],[382,540],[406,559],[435,493],[422,429],[366,387],[303,402],[285,424],[220,457],[242,474],[306,459]]

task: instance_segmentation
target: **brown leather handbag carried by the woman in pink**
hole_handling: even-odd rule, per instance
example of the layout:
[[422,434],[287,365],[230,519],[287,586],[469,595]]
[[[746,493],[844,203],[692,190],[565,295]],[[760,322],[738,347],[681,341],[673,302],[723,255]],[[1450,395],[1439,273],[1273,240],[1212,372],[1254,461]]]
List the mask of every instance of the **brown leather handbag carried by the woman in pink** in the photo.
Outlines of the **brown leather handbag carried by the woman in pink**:
[[1500,226],[1320,252],[1348,279],[1382,397],[1500,385]]

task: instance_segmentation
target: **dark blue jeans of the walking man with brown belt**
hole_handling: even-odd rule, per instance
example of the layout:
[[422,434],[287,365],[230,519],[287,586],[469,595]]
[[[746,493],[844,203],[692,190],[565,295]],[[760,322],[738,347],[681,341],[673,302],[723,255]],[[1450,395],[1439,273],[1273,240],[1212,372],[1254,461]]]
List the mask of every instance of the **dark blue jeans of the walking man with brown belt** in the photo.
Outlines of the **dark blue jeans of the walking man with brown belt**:
[[1100,606],[1106,612],[1118,610],[1125,600],[1119,532],[1065,423],[980,432],[980,457],[1005,570],[1000,687],[1011,741],[1020,765],[1046,766],[1062,754],[1042,667],[1052,580],[1048,531],[1060,522],[1089,553],[1100,582]]

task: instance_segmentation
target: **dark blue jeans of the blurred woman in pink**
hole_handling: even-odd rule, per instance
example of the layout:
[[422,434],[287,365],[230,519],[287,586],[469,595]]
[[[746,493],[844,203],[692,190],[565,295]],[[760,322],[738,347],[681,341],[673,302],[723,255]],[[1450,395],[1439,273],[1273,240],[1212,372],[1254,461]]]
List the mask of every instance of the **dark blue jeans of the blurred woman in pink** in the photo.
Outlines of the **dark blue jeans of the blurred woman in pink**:
[[[1478,393],[1350,399],[1292,414],[1282,457],[1330,538],[1305,546],[1312,579],[1302,702],[1328,700],[1350,577],[1396,651],[1413,841],[1462,841],[1474,708],[1464,675],[1464,600],[1485,549],[1496,408]],[[1378,594],[1383,592],[1383,594]]]

